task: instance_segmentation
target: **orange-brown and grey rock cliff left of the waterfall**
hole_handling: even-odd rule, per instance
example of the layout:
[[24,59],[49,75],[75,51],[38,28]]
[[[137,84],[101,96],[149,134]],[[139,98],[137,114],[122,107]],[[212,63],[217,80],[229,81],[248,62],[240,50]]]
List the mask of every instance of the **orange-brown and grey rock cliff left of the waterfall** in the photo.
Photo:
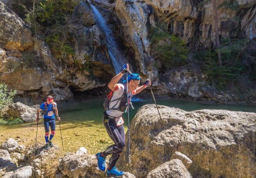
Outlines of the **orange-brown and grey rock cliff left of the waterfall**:
[[104,54],[104,33],[93,17],[88,4],[81,2],[74,9],[74,18],[78,19],[73,36],[77,60],[84,64],[89,62],[85,55],[97,53],[89,62],[89,73],[76,66],[62,68],[48,45],[33,37],[24,21],[0,2],[0,24],[4,27],[0,28],[0,81],[16,89],[19,95],[29,95],[35,100],[49,94],[56,101],[69,100],[73,97],[72,90],[105,86],[104,81],[113,76],[114,70],[110,58]]

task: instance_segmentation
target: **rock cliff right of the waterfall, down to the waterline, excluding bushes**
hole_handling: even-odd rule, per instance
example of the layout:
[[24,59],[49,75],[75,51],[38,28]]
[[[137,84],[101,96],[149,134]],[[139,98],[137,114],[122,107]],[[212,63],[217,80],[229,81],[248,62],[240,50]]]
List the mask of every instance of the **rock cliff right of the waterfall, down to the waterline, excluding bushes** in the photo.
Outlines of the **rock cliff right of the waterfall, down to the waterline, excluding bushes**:
[[[120,36],[130,51],[134,51],[141,74],[152,79],[153,86],[157,86],[160,95],[170,93],[189,99],[216,102],[237,100],[230,94],[208,86],[207,76],[189,68],[167,71],[164,75],[169,78],[164,83],[158,82],[154,60],[151,60],[155,50],[151,47],[148,34],[150,25],[154,26],[156,22],[169,30],[170,34],[181,36],[193,49],[216,46],[213,2],[211,0],[117,0],[115,10],[120,21]],[[228,1],[216,0],[219,35],[222,38],[239,38],[242,30],[246,38],[255,38],[255,1],[237,1],[239,8],[234,2],[228,4],[229,8],[227,4],[224,5],[225,3]],[[202,77],[197,78],[198,74]],[[186,80],[186,75],[192,81]]]

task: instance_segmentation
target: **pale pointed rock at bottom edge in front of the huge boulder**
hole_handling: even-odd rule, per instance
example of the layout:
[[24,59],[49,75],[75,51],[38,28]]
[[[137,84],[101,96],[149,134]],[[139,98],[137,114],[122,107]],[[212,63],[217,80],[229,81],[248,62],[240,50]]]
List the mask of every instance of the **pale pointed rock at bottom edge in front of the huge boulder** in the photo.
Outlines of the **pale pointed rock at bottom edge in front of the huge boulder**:
[[192,178],[179,159],[172,159],[150,171],[147,178]]

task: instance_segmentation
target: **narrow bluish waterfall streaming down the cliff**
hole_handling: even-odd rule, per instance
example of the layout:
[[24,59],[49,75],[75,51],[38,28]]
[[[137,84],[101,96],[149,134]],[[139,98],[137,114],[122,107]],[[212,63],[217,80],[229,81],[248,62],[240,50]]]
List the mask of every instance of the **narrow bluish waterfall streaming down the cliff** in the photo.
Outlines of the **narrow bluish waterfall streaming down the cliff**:
[[[89,0],[88,0],[88,2],[89,2]],[[102,28],[102,30],[106,34],[108,54],[111,57],[112,64],[115,68],[115,73],[118,74],[121,70],[121,67],[124,64],[128,64],[128,61],[126,60],[124,55],[122,55],[121,51],[119,50],[117,42],[115,41],[115,39],[113,37],[113,33],[112,33],[111,29],[108,27],[104,17],[101,15],[101,13],[98,11],[98,9],[91,4],[91,2],[89,2],[89,4],[91,5],[91,9],[93,11],[93,14],[95,15],[97,24],[100,26],[100,28]],[[130,66],[130,64],[129,64],[129,67],[131,70],[132,66]]]

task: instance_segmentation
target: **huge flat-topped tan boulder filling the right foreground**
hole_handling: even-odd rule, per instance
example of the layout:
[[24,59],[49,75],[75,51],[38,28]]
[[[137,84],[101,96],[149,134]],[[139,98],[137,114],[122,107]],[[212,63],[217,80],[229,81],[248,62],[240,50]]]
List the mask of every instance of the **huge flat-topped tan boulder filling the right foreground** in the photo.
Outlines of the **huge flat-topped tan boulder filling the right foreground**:
[[[120,169],[146,177],[178,151],[193,161],[192,177],[256,176],[256,113],[228,110],[196,110],[155,105],[141,107],[130,125],[132,167],[126,165],[127,147]],[[126,145],[128,136],[126,133]],[[200,176],[201,175],[201,176]]]

